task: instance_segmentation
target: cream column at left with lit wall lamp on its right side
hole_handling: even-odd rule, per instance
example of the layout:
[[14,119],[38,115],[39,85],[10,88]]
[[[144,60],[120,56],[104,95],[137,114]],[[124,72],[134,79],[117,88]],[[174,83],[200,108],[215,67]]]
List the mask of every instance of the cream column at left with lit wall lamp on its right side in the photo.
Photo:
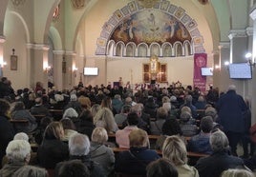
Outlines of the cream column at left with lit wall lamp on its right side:
[[34,89],[36,82],[43,83],[44,89],[48,89],[48,50],[49,47],[43,44],[28,44],[28,53],[31,57],[31,86]]

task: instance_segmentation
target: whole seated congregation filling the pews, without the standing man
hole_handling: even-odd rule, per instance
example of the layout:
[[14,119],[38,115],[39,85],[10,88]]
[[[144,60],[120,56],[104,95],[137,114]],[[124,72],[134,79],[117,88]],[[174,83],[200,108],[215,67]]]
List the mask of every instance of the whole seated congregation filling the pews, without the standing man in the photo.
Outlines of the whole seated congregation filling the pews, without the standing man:
[[230,153],[215,108],[218,89],[46,91],[38,82],[15,93],[2,78],[0,92],[3,177],[254,176],[252,142],[243,142],[246,158]]

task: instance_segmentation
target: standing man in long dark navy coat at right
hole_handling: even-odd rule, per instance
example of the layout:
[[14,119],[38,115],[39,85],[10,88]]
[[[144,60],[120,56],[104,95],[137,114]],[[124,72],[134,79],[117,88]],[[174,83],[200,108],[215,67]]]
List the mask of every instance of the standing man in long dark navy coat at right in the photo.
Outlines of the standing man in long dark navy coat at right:
[[246,105],[243,97],[236,93],[236,87],[230,85],[227,92],[222,95],[216,104],[218,123],[224,127],[231,152],[237,156],[237,145],[245,133]]

